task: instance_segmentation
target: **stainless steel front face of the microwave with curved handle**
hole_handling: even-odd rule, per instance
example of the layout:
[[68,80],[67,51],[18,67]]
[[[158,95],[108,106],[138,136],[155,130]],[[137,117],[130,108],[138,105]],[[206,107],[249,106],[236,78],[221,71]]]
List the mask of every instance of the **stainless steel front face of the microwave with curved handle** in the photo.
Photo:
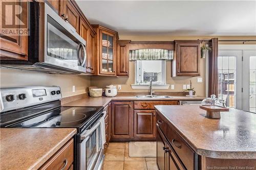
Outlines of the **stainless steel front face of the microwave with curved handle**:
[[47,4],[44,17],[44,62],[86,72],[86,41]]

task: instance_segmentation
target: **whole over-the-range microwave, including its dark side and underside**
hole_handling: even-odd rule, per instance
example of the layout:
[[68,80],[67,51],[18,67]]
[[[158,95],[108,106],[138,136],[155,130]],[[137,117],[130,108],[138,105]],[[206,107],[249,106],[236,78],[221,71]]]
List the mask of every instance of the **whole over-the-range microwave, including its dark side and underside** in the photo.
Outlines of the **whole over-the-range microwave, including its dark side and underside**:
[[1,61],[1,66],[53,74],[86,72],[86,40],[47,3],[29,6],[28,61]]

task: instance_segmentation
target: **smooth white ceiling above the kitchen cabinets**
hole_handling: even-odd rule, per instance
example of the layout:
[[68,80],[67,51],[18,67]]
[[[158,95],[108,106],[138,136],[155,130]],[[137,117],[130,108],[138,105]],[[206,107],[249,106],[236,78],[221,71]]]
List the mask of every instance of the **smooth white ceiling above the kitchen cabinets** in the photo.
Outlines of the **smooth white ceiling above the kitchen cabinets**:
[[119,34],[256,35],[256,1],[82,1],[91,24]]

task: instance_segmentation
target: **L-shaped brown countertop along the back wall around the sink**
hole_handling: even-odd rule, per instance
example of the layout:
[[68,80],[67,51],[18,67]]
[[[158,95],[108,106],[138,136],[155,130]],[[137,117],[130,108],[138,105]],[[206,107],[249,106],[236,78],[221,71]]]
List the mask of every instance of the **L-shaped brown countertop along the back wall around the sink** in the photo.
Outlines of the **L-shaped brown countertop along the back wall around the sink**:
[[98,98],[82,98],[73,102],[69,102],[66,104],[63,104],[62,106],[70,106],[70,107],[83,107],[83,106],[103,106],[105,107],[108,105],[111,101],[179,101],[179,100],[190,100],[190,101],[196,101],[196,100],[203,100],[204,97],[202,96],[195,96],[195,97],[187,97],[187,96],[172,96],[172,98],[166,98],[166,99],[157,99],[157,98],[136,98],[135,95],[117,95],[115,97],[98,97]]

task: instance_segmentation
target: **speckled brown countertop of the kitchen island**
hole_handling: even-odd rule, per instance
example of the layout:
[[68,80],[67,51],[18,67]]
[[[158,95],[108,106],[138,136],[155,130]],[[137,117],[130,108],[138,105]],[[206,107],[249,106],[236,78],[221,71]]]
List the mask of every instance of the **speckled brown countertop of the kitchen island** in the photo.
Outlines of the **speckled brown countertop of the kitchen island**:
[[206,118],[199,106],[156,106],[199,155],[220,159],[256,159],[256,114],[237,109]]

